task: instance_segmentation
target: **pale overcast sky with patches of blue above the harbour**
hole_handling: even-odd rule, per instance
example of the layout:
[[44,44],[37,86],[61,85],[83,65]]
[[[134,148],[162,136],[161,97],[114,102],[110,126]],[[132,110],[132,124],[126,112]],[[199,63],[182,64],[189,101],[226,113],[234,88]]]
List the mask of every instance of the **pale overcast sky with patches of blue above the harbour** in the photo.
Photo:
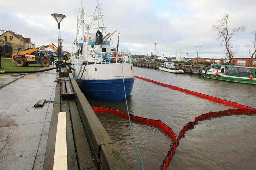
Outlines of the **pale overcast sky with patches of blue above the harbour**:
[[[96,0],[82,3],[85,14],[93,15]],[[119,48],[133,54],[154,53],[157,41],[158,56],[174,57],[177,49],[177,55],[196,57],[195,45],[201,45],[198,57],[225,58],[225,47],[212,26],[227,13],[230,29],[246,27],[232,39],[238,45],[234,56],[249,57],[248,45],[256,30],[256,0],[99,0],[99,4],[109,32],[120,33]],[[81,0],[2,0],[0,29],[31,38],[36,46],[57,44],[57,22],[51,13],[61,13],[67,16],[61,22],[62,45],[71,52],[80,7]],[[117,32],[112,37],[115,45]]]

